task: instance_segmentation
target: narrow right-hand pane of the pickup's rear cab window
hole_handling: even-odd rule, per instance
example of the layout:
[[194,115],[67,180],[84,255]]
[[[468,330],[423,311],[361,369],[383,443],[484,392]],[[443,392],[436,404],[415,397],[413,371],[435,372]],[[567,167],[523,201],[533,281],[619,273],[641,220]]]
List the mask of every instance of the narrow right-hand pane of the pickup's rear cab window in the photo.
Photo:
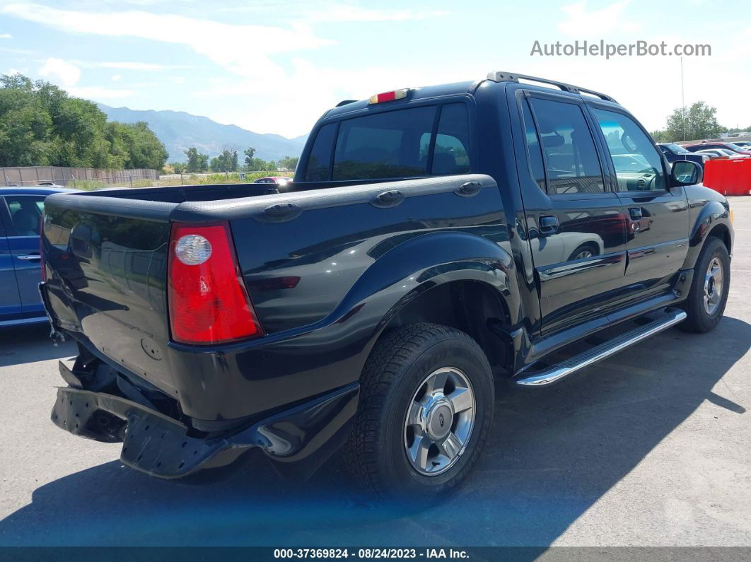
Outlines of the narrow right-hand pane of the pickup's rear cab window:
[[433,176],[469,172],[469,118],[464,104],[442,107],[430,171]]

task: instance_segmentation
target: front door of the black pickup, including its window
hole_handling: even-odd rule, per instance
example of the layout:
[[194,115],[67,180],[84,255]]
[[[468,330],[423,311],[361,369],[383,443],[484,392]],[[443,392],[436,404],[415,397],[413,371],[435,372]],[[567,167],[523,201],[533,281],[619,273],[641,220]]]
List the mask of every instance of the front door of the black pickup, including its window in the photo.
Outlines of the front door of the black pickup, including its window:
[[689,204],[682,187],[668,190],[658,149],[626,113],[592,106],[611,154],[618,197],[626,212],[626,290],[632,298],[664,293],[689,251]]

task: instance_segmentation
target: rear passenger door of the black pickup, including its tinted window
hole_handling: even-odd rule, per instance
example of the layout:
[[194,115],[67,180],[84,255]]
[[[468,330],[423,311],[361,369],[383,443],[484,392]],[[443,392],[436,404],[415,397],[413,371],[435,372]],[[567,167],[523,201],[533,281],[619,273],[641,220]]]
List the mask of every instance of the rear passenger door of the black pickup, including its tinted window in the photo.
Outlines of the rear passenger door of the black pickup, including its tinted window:
[[517,91],[529,173],[520,167],[542,332],[603,317],[626,267],[626,221],[609,191],[581,98]]

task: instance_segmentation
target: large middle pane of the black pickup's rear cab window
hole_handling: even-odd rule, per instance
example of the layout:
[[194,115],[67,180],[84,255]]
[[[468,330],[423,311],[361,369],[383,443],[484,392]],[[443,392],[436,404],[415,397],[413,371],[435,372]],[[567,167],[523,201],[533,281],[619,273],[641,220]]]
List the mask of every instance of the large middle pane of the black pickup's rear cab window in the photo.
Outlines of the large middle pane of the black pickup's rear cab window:
[[339,125],[333,179],[379,179],[427,175],[425,134],[436,107],[375,113]]

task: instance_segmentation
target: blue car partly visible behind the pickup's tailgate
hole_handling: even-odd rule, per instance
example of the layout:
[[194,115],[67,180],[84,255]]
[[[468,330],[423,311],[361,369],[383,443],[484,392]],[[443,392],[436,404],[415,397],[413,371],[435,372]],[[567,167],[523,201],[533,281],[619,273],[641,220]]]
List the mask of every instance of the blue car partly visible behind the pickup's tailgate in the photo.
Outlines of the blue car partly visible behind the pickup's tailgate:
[[0,326],[47,322],[41,281],[39,227],[44,199],[65,188],[0,188]]

